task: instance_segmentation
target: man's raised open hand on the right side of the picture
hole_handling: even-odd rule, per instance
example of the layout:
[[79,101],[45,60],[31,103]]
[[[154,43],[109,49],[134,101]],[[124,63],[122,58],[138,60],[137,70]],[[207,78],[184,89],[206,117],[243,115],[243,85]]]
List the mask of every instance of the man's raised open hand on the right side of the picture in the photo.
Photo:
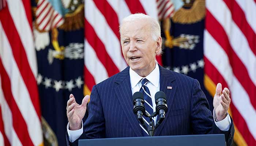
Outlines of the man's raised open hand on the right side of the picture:
[[221,83],[217,84],[216,92],[213,99],[213,106],[215,110],[215,116],[218,121],[221,121],[226,118],[227,110],[229,110],[230,97],[229,97],[229,89],[224,88],[222,90]]

